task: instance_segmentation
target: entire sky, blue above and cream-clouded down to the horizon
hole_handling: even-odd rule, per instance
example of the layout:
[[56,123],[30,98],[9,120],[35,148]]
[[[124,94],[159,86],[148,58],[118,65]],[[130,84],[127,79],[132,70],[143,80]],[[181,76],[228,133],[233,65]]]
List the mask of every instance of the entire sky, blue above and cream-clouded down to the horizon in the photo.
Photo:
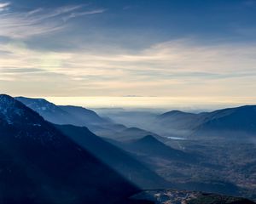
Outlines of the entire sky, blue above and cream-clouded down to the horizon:
[[0,0],[0,90],[256,104],[255,19],[256,0]]

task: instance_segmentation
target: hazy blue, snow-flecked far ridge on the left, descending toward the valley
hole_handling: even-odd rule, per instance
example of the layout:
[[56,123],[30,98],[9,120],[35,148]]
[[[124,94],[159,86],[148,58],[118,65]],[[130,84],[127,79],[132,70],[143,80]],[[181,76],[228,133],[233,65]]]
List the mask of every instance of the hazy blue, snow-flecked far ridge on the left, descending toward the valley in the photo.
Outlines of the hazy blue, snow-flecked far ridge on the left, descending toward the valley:
[[[88,127],[96,135],[111,139],[136,139],[142,138],[148,132],[139,128],[127,128],[111,120],[98,116],[96,112],[84,107],[73,105],[55,105],[45,99],[30,99],[16,97],[33,111],[38,112],[46,121],[59,125],[74,125]],[[153,133],[150,133],[153,134]]]

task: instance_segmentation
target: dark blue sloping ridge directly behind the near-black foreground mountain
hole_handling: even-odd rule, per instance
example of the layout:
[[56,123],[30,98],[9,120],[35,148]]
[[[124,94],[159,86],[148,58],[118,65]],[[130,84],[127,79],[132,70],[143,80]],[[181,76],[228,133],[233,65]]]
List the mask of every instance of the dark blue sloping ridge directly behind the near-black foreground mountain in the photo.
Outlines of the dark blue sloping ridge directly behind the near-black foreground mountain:
[[88,150],[100,161],[108,164],[109,167],[124,178],[128,178],[133,184],[140,188],[164,188],[172,184],[160,178],[148,167],[137,161],[131,154],[119,147],[109,144],[105,140],[91,133],[86,127],[74,127],[71,125],[56,125],[61,133],[67,135],[84,150]]

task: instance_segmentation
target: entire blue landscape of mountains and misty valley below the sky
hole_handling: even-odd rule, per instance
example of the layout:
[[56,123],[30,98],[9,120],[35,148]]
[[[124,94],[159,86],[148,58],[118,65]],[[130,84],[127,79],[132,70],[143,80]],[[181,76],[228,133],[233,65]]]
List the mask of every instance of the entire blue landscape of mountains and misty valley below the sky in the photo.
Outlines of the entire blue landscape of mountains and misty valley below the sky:
[[0,134],[3,203],[256,200],[254,105],[91,111],[2,94]]

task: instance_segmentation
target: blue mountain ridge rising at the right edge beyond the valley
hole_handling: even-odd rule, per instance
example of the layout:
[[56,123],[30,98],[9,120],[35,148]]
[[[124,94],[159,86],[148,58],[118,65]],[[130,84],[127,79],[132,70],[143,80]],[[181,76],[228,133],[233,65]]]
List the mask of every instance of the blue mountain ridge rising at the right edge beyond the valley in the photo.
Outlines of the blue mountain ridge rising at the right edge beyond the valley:
[[256,133],[256,105],[199,114],[170,111],[156,118],[156,129],[184,137],[252,138]]

